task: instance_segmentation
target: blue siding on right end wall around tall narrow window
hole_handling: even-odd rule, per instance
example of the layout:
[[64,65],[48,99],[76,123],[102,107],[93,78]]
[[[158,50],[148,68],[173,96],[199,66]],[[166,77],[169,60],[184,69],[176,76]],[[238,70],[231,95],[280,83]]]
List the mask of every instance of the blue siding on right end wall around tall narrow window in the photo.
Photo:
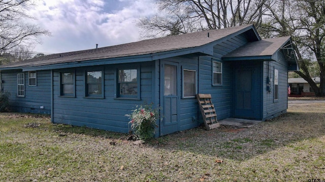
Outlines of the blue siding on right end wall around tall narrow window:
[[[263,81],[263,120],[272,119],[287,109],[288,67],[287,61],[281,52],[278,52],[277,61],[264,62]],[[274,100],[274,69],[279,71],[279,99]],[[267,92],[267,77],[272,78],[271,92]]]

